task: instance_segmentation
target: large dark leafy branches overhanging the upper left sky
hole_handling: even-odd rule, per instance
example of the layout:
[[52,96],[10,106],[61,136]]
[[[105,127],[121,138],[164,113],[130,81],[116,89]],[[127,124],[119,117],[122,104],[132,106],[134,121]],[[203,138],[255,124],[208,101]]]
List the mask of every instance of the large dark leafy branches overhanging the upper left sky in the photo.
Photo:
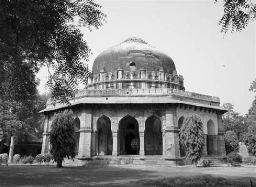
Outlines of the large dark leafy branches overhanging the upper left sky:
[[[52,98],[68,103],[90,75],[91,49],[81,28],[92,31],[106,15],[93,1],[3,1],[0,4],[1,96],[21,100],[35,93],[35,73],[53,70],[46,86]],[[78,24],[73,24],[78,20]]]

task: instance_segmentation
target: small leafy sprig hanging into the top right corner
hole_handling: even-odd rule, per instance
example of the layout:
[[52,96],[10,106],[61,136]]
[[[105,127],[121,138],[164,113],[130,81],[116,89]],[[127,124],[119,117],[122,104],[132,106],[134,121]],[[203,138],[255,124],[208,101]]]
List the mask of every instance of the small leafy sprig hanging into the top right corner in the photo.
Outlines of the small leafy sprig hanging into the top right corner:
[[[218,0],[215,0],[218,2]],[[221,32],[227,33],[231,29],[242,31],[250,21],[256,19],[256,5],[250,0],[224,0],[224,15],[219,21]]]

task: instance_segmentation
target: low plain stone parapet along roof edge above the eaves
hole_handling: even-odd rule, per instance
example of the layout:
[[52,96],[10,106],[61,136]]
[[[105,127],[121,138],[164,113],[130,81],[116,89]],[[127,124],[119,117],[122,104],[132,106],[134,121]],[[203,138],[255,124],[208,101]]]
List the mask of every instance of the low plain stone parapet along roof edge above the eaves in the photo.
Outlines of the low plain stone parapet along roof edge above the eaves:
[[177,95],[211,102],[219,102],[218,97],[203,95],[178,89],[83,89],[78,90],[75,97],[100,97],[100,96],[139,96],[139,95]]

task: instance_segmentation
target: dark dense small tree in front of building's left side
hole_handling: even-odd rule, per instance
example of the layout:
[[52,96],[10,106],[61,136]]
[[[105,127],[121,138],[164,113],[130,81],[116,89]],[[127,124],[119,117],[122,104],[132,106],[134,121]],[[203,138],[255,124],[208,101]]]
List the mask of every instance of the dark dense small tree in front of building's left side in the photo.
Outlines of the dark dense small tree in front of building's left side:
[[57,167],[62,167],[65,157],[68,159],[75,157],[75,127],[71,110],[55,114],[51,124],[50,143],[52,145],[50,153],[57,162]]

